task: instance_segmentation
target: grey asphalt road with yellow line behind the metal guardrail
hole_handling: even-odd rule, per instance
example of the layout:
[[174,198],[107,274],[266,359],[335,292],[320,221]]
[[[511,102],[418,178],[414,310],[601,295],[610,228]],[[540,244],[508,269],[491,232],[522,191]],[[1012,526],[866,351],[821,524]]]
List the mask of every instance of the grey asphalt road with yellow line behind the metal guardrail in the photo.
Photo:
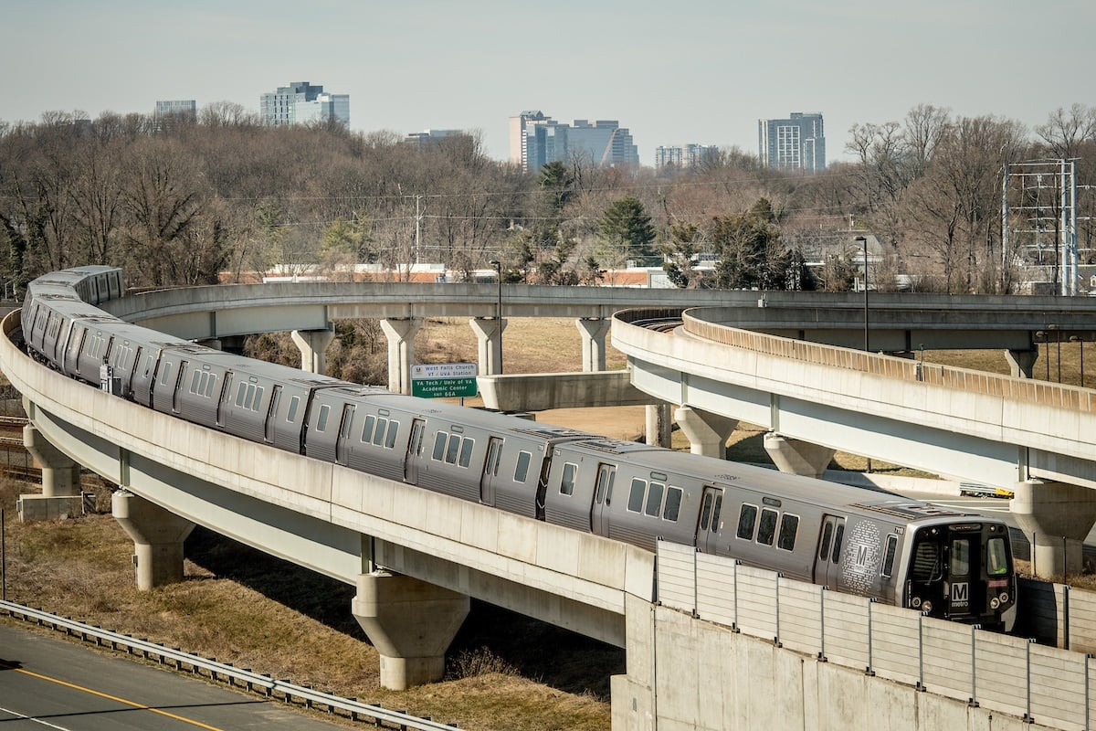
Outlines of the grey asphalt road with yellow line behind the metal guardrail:
[[3,731],[332,731],[258,696],[0,624]]

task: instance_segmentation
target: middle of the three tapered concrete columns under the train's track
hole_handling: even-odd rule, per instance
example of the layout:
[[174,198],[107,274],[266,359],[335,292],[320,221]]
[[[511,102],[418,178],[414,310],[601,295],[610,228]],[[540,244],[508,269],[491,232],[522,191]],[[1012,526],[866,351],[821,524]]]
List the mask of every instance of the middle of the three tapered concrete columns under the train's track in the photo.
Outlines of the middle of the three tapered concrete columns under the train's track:
[[147,592],[183,580],[183,541],[193,523],[125,490],[114,493],[111,512],[134,541],[137,589]]

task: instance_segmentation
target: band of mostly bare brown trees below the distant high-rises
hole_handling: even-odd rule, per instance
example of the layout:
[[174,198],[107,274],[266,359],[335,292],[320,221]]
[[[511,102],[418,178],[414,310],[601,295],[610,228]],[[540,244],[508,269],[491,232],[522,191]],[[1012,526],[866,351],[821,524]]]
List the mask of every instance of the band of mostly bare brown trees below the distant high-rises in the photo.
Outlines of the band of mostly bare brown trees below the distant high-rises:
[[[868,232],[886,244],[879,288],[903,273],[921,289],[1004,292],[1024,264],[1023,240],[1001,248],[1004,165],[1076,159],[1078,181],[1096,181],[1096,110],[1082,105],[1034,130],[921,105],[850,132],[855,161],[813,175],[739,149],[693,170],[573,159],[522,173],[475,136],[419,147],[270,128],[228,103],[196,119],[50,113],[0,122],[0,274],[20,286],[105,263],[167,286],[275,265],[339,278],[361,263],[404,276],[415,262],[465,274],[500,262],[510,282],[580,284],[664,261],[678,286],[845,289],[850,240]],[[718,264],[697,270],[704,254]]]

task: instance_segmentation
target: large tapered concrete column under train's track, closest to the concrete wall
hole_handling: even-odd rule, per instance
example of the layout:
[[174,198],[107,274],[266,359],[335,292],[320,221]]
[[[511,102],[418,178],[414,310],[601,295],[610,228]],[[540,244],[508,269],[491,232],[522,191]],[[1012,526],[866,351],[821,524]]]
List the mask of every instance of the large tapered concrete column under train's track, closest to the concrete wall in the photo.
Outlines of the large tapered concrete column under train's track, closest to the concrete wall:
[[467,595],[411,576],[361,574],[352,612],[380,653],[380,685],[404,690],[442,679],[468,607]]

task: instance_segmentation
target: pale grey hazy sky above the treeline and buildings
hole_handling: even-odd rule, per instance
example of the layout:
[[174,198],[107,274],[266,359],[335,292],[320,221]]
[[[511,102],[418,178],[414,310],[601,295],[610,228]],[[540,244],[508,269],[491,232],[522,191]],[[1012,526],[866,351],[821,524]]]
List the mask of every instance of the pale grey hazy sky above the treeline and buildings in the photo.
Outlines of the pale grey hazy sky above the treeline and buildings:
[[[0,0],[0,119],[151,113],[290,81],[347,93],[351,127],[617,119],[660,145],[756,152],[757,119],[821,112],[827,160],[855,123],[916,104],[1035,125],[1096,105],[1093,0]],[[847,159],[847,158],[846,158]]]

